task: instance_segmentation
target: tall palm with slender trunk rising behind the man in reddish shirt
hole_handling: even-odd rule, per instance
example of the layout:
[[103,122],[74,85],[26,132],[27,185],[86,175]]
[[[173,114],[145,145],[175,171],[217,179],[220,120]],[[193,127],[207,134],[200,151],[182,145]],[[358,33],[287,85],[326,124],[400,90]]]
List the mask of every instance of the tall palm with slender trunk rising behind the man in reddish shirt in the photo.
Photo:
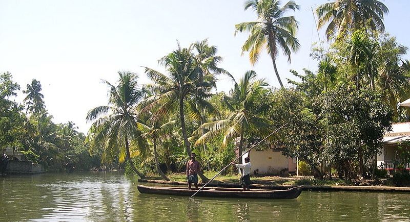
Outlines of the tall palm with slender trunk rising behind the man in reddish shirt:
[[[196,51],[196,53],[195,53]],[[199,106],[203,111],[215,110],[206,100],[215,86],[215,75],[228,73],[217,67],[221,61],[215,56],[215,46],[207,42],[197,42],[188,48],[178,46],[177,50],[163,57],[159,63],[165,66],[167,75],[146,67],[147,76],[154,82],[148,84],[154,94],[141,105],[142,111],[155,108],[152,119],[167,118],[179,112],[182,135],[188,154],[191,154],[190,143],[185,126],[185,102]]]

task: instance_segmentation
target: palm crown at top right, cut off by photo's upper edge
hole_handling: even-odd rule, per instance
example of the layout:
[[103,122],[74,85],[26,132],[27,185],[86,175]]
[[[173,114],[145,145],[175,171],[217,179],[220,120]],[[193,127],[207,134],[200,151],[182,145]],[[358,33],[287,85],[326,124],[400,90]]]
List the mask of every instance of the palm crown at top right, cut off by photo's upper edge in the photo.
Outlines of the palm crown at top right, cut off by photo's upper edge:
[[372,30],[382,33],[383,18],[387,13],[388,8],[377,0],[335,0],[316,9],[318,28],[329,23],[326,28],[327,39],[344,36],[347,31],[363,27],[367,21]]

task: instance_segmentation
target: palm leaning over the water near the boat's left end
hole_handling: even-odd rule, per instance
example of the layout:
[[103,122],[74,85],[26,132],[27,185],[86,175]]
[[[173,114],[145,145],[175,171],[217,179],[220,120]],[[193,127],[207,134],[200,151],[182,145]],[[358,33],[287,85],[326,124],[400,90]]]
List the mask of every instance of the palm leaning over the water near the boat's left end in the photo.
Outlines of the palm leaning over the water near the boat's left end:
[[138,115],[135,108],[144,98],[145,90],[137,83],[138,76],[129,71],[119,71],[116,86],[104,81],[110,87],[108,106],[99,106],[90,110],[87,121],[93,121],[88,132],[90,151],[103,147],[103,158],[110,159],[124,154],[131,168],[140,177],[145,175],[137,170],[131,159],[131,150],[145,154],[147,141],[137,128]]

